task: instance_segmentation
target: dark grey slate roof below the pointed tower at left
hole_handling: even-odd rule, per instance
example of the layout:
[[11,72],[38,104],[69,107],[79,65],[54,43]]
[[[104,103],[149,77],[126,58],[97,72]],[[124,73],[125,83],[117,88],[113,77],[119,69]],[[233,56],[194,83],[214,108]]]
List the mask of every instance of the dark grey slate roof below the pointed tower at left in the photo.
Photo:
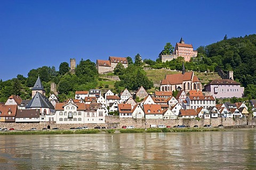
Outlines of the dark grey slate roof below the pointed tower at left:
[[54,109],[54,106],[51,104],[49,99],[42,95],[39,92],[36,92],[36,95],[31,99],[26,106],[26,108],[51,108]]

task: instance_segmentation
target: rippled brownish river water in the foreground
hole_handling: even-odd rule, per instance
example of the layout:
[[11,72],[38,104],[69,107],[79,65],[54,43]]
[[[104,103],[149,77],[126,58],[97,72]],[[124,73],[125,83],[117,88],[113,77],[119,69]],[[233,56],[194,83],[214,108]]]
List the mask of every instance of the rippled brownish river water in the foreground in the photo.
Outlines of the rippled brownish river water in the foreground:
[[0,169],[256,169],[256,131],[0,135]]

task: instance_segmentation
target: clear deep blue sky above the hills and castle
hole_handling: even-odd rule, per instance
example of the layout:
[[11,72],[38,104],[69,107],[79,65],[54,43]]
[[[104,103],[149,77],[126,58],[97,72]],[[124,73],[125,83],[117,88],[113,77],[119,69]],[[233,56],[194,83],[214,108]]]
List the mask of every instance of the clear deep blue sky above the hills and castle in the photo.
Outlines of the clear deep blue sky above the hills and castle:
[[181,37],[196,49],[256,31],[255,1],[0,1],[0,79],[83,58],[156,60]]

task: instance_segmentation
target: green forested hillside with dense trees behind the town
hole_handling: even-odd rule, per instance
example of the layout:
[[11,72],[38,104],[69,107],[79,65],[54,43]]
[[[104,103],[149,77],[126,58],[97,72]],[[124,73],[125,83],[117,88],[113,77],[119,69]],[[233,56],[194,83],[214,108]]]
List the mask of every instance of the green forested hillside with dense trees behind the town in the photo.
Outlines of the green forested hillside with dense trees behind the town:
[[[159,56],[162,53],[169,54],[172,50],[171,44],[166,43]],[[186,70],[213,72],[216,66],[221,67],[224,71],[234,70],[234,78],[245,87],[245,95],[249,98],[256,98],[256,35],[230,39],[225,36],[223,40],[211,45],[200,46],[197,50],[198,56],[190,62],[185,62]],[[114,70],[114,74],[121,79],[115,83],[113,90],[116,92],[120,92],[123,88],[137,90],[140,86],[146,89],[152,88],[153,82],[146,77],[143,67],[182,70],[184,61],[182,57],[178,57],[165,63],[162,63],[159,58],[156,61],[145,59],[142,62],[142,57],[139,54],[134,57],[134,64],[131,57],[127,57],[127,60],[129,61],[127,69],[119,64]],[[102,84],[99,83],[101,78],[99,78],[95,63],[90,60],[81,60],[77,64],[75,74],[71,74],[69,70],[69,64],[62,62],[59,71],[54,66],[42,66],[30,70],[27,78],[18,74],[17,78],[7,81],[0,80],[0,101],[6,101],[11,95],[19,95],[22,99],[31,98],[30,88],[34,86],[38,75],[46,90],[46,96],[51,92],[51,82],[57,84],[60,101],[73,98],[76,90],[102,87]]]

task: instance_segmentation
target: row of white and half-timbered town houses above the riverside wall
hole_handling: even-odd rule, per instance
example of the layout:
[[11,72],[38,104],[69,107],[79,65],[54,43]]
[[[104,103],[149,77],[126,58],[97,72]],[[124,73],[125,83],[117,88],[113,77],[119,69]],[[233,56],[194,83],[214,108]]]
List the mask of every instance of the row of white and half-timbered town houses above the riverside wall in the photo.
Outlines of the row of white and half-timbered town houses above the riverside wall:
[[[200,88],[186,90],[186,85],[182,87],[185,90],[180,89],[175,97],[172,91],[155,91],[154,95],[149,95],[143,87],[133,95],[127,89],[119,95],[111,90],[102,94],[99,89],[91,89],[76,91],[74,99],[59,103],[56,95],[45,96],[38,77],[31,89],[31,100],[22,100],[13,95],[0,105],[0,122],[100,124],[105,123],[105,117],[113,113],[118,113],[121,118],[146,119],[233,118],[249,114],[244,103],[216,104],[215,98],[203,95]],[[137,103],[134,98],[142,101]]]

